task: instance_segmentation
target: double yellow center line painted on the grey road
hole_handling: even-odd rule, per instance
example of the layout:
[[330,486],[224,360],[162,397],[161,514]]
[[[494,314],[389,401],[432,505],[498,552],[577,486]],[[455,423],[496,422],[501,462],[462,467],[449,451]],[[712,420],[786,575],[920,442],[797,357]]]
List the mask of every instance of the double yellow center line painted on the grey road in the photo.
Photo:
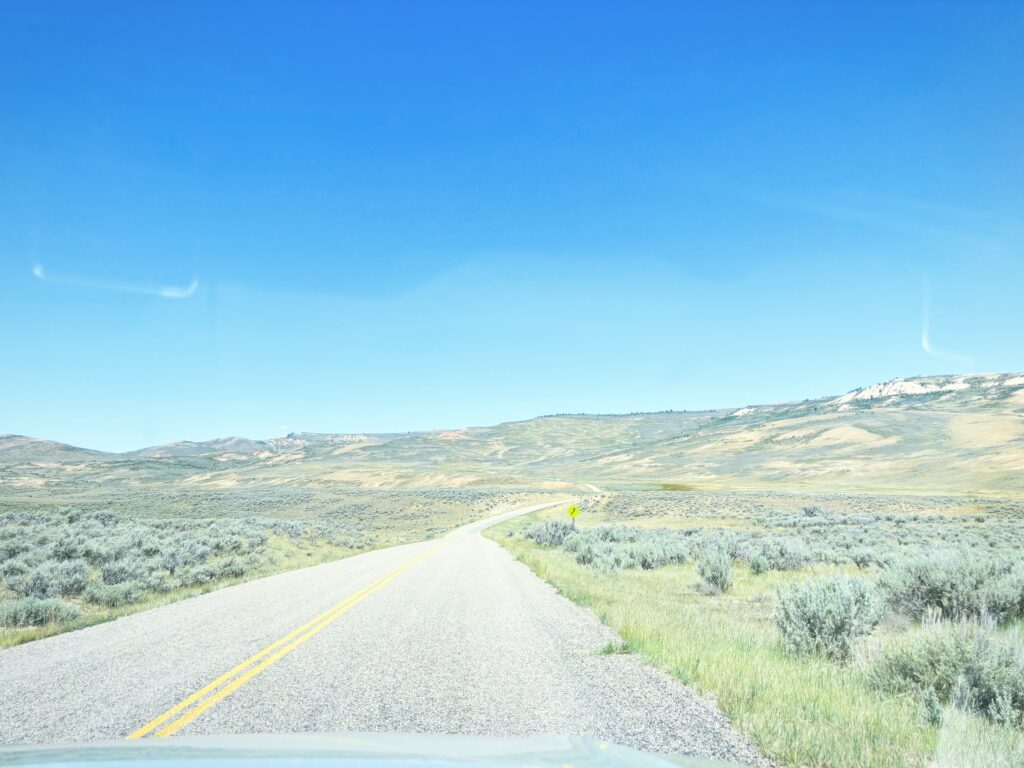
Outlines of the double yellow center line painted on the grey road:
[[285,657],[306,640],[326,628],[336,618],[347,612],[353,606],[366,600],[372,594],[383,589],[387,584],[396,579],[402,571],[413,567],[421,560],[437,553],[444,545],[438,544],[431,547],[418,557],[399,565],[389,573],[384,574],[376,582],[372,582],[367,587],[356,592],[354,595],[345,598],[337,605],[329,608],[318,616],[308,622],[297,630],[288,633],[276,642],[266,646],[253,656],[234,667],[218,677],[209,685],[200,688],[190,696],[181,699],[163,715],[154,718],[138,730],[128,734],[128,738],[142,738],[153,733],[155,736],[170,736],[176,733],[204,712],[222,701],[231,693],[237,691],[247,682],[252,680],[267,667]]

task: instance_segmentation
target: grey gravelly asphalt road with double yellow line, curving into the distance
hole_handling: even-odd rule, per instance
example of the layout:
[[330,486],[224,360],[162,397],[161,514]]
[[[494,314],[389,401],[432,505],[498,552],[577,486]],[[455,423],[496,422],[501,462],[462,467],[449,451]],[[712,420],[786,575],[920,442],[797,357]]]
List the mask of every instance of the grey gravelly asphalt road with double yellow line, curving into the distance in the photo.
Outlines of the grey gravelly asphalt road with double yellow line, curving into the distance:
[[369,552],[0,651],[0,741],[588,735],[759,764],[717,707],[480,536]]

